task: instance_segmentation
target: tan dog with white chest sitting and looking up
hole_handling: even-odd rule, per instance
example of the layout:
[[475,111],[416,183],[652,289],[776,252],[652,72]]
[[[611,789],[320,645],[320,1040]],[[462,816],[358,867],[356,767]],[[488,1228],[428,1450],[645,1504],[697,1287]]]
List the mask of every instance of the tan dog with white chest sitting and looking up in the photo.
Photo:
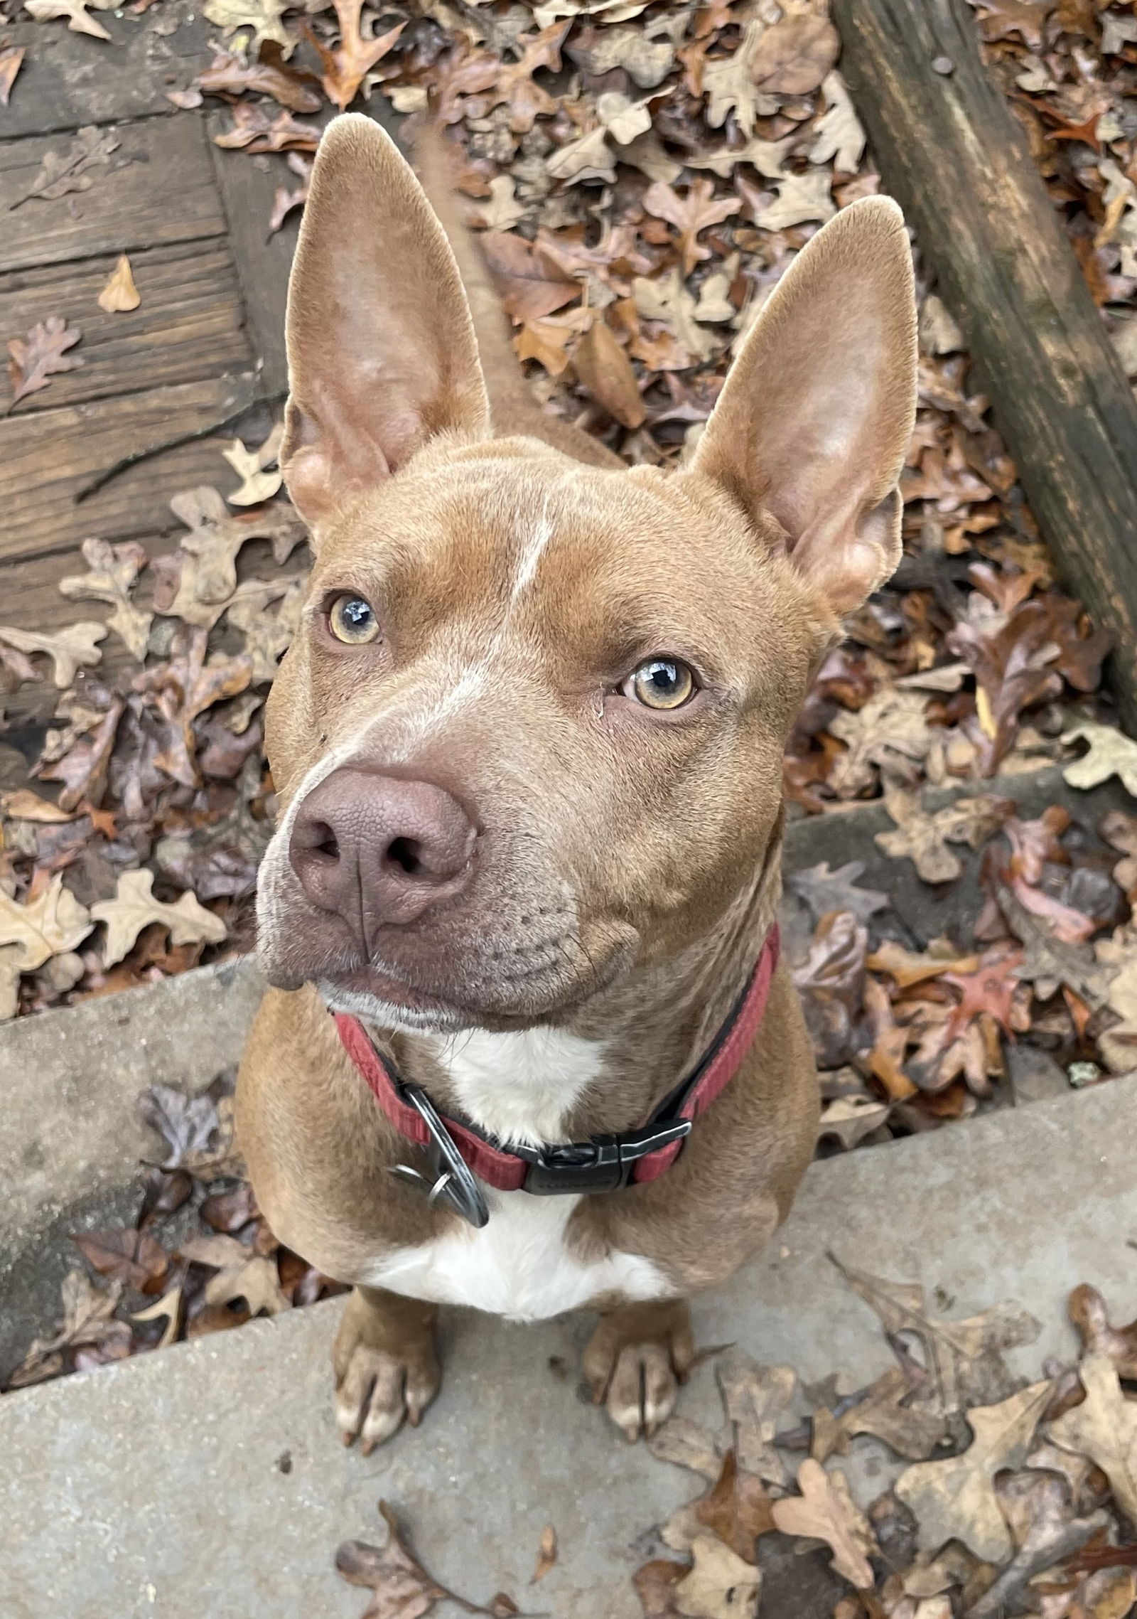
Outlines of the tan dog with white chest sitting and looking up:
[[[828,223],[665,474],[537,408],[451,238],[466,290],[391,141],[330,125],[281,457],[315,567],[268,699],[277,988],[238,1127],[277,1235],[356,1285],[346,1439],[419,1420],[438,1303],[598,1310],[585,1373],[636,1438],[691,1363],[686,1295],[767,1242],[814,1148],[784,967],[765,992],[781,754],[841,615],[899,560],[911,254],[885,199]],[[691,1127],[660,1101],[708,1049]],[[652,1158],[645,1125],[671,1130]]]

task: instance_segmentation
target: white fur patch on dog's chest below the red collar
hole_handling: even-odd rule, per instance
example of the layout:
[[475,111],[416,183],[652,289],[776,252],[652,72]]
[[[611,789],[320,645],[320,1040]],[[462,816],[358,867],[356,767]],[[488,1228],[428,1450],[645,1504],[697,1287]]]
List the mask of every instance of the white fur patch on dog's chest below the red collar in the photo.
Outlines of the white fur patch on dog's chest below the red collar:
[[602,1260],[577,1260],[569,1253],[564,1227],[579,1201],[579,1195],[535,1198],[527,1192],[487,1192],[488,1226],[398,1248],[370,1264],[362,1281],[513,1321],[543,1321],[579,1310],[600,1294],[628,1300],[671,1297],[668,1279],[639,1253],[613,1251]]

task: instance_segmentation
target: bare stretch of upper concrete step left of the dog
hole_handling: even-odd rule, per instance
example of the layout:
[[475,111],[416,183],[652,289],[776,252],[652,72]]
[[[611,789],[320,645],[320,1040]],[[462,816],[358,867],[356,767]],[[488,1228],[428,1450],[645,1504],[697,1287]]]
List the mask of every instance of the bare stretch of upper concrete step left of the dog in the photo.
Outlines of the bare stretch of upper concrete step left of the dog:
[[262,994],[251,957],[0,1025],[0,1378],[52,1321],[66,1237],[121,1224],[154,1137],[150,1083],[201,1090],[241,1056]]

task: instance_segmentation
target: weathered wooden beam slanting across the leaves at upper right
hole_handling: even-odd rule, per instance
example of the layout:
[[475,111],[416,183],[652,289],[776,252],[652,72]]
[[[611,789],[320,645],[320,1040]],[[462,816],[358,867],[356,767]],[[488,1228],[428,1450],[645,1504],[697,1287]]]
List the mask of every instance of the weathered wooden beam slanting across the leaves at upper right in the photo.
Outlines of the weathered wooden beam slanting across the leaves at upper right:
[[1114,633],[1137,727],[1137,403],[964,0],[835,0],[888,189],[975,356],[1055,562]]

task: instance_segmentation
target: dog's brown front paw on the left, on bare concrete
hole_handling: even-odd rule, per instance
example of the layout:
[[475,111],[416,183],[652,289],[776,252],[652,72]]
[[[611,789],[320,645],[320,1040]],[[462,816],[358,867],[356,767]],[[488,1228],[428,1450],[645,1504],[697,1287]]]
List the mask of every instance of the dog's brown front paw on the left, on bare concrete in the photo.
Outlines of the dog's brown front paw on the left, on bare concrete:
[[353,1292],[332,1352],[335,1418],[344,1444],[359,1438],[369,1455],[404,1418],[419,1426],[442,1381],[435,1318],[437,1310],[417,1298],[372,1287]]

